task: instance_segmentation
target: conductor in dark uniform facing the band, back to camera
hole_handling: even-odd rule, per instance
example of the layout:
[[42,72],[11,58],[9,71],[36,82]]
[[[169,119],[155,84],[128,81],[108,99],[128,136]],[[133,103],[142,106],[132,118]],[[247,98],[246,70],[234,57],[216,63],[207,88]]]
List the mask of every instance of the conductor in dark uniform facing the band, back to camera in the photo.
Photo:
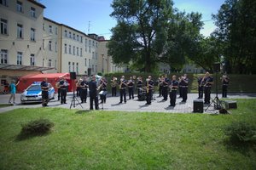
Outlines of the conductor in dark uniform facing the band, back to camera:
[[89,94],[90,94],[90,110],[93,110],[93,101],[95,104],[95,109],[99,110],[96,76],[91,77],[91,81],[89,82],[89,91],[90,91],[89,92]]

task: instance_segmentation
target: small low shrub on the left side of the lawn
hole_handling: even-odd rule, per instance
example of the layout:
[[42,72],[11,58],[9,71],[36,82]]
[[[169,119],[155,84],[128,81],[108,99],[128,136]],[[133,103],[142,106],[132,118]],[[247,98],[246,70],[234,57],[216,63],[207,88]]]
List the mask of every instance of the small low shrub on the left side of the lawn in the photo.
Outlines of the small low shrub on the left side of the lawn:
[[54,126],[53,122],[48,119],[38,119],[21,125],[23,134],[42,134],[48,133],[49,129]]

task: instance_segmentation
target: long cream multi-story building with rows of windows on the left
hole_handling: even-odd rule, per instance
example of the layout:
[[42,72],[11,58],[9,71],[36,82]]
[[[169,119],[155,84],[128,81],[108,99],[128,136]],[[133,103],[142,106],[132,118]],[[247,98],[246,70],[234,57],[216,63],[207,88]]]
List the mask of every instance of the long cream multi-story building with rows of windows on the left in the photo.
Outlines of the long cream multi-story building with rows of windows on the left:
[[34,0],[0,1],[0,91],[4,82],[31,73],[121,71],[104,38],[44,18],[44,8]]

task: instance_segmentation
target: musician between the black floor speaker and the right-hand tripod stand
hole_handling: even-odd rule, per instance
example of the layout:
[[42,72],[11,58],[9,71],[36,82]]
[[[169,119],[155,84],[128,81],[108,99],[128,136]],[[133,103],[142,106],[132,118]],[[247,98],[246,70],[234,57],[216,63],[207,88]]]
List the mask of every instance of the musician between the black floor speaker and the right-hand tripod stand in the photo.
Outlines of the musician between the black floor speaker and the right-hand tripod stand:
[[204,92],[205,92],[204,104],[210,104],[213,77],[210,76],[209,72],[207,72],[206,75],[202,78],[202,84],[204,86]]

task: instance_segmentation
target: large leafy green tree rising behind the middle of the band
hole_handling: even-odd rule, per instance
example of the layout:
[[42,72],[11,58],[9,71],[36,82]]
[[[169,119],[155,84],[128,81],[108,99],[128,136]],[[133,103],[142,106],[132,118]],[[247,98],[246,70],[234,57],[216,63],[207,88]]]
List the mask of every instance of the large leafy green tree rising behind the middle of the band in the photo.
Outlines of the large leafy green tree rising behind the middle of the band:
[[154,71],[166,44],[172,5],[172,0],[113,0],[110,15],[118,22],[108,42],[113,62],[132,61],[141,71]]

